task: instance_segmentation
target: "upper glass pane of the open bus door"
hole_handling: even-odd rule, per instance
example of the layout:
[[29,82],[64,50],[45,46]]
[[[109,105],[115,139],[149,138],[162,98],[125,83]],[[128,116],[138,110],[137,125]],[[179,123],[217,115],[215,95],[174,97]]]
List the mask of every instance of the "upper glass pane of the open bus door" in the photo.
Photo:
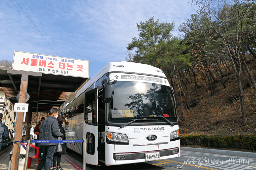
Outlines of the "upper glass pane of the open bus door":
[[85,122],[96,125],[96,102],[95,91],[87,93],[85,96]]

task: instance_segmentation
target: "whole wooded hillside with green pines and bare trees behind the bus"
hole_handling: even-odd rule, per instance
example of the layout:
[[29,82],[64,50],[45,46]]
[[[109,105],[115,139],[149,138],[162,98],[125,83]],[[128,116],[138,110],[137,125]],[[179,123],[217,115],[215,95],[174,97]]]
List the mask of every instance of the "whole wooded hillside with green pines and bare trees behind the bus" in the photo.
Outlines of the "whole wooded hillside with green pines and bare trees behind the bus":
[[126,60],[164,71],[175,87],[181,133],[256,133],[256,4],[195,0],[198,8],[179,26],[150,17],[137,23],[139,38]]

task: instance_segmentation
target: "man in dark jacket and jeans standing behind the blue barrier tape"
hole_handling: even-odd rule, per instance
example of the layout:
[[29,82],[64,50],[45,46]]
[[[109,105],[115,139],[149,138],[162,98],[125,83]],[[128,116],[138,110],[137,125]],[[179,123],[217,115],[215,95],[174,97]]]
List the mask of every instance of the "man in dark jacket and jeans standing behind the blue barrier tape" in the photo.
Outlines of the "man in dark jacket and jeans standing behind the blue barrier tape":
[[[58,109],[51,108],[48,118],[43,120],[41,123],[39,136],[40,141],[53,141],[58,140],[58,137],[64,137],[63,133],[59,131],[59,124],[56,119],[57,117]],[[39,146],[43,147],[43,155],[36,170],[42,170],[43,166],[45,170],[50,170],[56,144],[58,143],[39,143]]]

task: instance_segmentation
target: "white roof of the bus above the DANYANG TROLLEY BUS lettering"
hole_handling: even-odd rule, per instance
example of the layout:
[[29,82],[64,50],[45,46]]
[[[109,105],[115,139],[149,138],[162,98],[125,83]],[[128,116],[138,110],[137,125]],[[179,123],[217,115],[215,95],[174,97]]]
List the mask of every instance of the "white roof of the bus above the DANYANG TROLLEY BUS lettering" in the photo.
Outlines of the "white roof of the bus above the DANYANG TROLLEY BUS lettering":
[[75,98],[82,94],[88,87],[93,85],[99,78],[108,72],[127,72],[133,74],[148,74],[159,77],[166,77],[164,73],[156,67],[147,64],[120,61],[120,62],[109,62],[99,72],[89,80],[76,94]]

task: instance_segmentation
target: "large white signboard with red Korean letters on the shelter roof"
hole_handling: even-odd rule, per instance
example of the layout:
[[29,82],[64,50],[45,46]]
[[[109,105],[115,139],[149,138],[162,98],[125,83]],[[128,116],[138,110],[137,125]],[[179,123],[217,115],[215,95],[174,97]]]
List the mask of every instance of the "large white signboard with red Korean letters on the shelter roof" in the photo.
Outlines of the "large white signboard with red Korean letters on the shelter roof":
[[89,61],[14,51],[12,70],[89,77]]

